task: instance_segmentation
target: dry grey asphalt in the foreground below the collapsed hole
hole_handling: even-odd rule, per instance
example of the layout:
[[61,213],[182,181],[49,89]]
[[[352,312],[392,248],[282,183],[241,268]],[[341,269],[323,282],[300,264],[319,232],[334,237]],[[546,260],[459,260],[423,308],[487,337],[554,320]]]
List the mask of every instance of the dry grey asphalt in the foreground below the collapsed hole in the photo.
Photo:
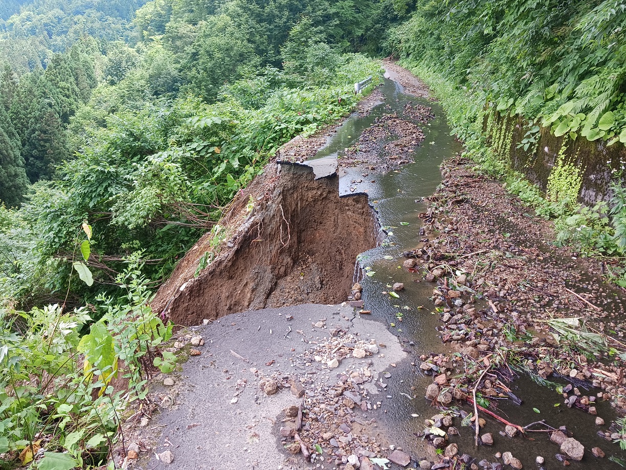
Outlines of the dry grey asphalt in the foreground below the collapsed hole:
[[[337,309],[339,315],[332,315]],[[291,332],[284,322],[287,312],[295,314],[294,320],[289,322]],[[384,355],[377,353],[375,345],[369,345],[364,359],[350,354],[334,369],[318,362],[305,365],[301,358],[319,354],[322,338],[336,339],[328,330],[313,332],[311,329],[311,323],[325,316],[329,318],[329,328],[341,328],[346,332],[344,334],[361,338],[359,342],[369,344],[375,339],[386,344]],[[285,419],[284,410],[294,407],[289,408],[290,414],[294,414],[292,409],[309,396],[307,386],[303,386],[299,379],[314,377],[315,380],[334,384],[337,374],[353,370],[350,367],[357,367],[362,360],[369,360],[372,381],[362,385],[364,390],[369,390],[364,393],[373,394],[376,392],[374,380],[391,363],[399,363],[406,357],[398,339],[384,325],[357,315],[351,306],[300,305],[247,311],[192,329],[194,334],[211,339],[205,339],[202,355],[183,365],[181,379],[177,380],[180,392],[176,397],[177,405],[172,410],[154,415],[151,426],[140,428],[143,439],[158,443],[153,449],[155,453],[172,451],[176,458],[173,466],[184,469],[240,470],[250,466],[268,469],[282,466],[284,470],[307,468],[309,464],[304,461],[304,456],[290,454],[280,442],[281,438],[287,439],[288,443],[293,442],[292,437],[285,438],[280,433],[280,428],[289,424],[282,422]],[[235,357],[231,350],[250,362]],[[266,395],[265,389],[259,388],[263,379],[267,379],[265,383],[275,380],[277,393]],[[237,384],[243,384],[243,390]],[[235,394],[237,402],[231,404]],[[304,398],[295,396],[300,394]],[[370,396],[376,397],[376,400],[384,398],[381,395]],[[351,400],[354,399],[357,399],[356,394],[351,397]],[[354,415],[359,420],[365,414],[374,417],[375,413],[376,410],[354,409]],[[198,422],[201,426],[188,429],[190,422]],[[355,422],[354,426],[361,425]],[[346,429],[354,434],[355,430],[351,427],[342,424],[339,432],[343,435],[341,430]],[[149,434],[156,429],[162,429],[162,433]],[[374,438],[374,432],[384,435],[384,426],[379,422],[376,431],[368,431],[371,438]],[[290,434],[287,431],[284,433]],[[338,440],[342,436],[333,437]],[[324,455],[327,456],[326,451]],[[166,467],[154,457],[150,466],[154,469]]]

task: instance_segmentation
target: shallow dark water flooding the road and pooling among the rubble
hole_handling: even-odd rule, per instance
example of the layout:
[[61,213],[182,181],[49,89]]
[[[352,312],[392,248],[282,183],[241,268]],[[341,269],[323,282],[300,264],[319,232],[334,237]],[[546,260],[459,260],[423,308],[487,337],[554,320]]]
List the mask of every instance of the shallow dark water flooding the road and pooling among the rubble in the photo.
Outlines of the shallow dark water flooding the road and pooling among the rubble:
[[[443,110],[437,103],[428,102],[423,98],[415,98],[403,93],[403,88],[396,81],[386,79],[381,85],[384,102],[377,105],[367,117],[354,115],[339,128],[337,133],[329,139],[326,147],[316,156],[316,160],[309,164],[316,170],[318,177],[327,174],[340,164],[339,172],[340,194],[348,195],[357,192],[367,192],[369,199],[378,213],[381,226],[386,232],[384,241],[377,248],[363,253],[359,257],[361,267],[371,268],[373,276],[366,276],[362,280],[363,298],[372,316],[381,322],[381,328],[388,328],[397,335],[411,359],[389,368],[387,384],[377,400],[382,403],[379,420],[386,425],[391,441],[396,446],[403,447],[415,458],[426,457],[430,461],[438,461],[433,447],[422,441],[424,419],[437,413],[437,410],[424,399],[424,389],[432,382],[431,377],[421,375],[419,371],[419,355],[429,352],[449,352],[448,345],[439,340],[436,326],[441,325],[439,315],[431,313],[433,305],[429,300],[434,284],[427,283],[419,273],[408,273],[401,267],[404,258],[403,251],[414,248],[419,241],[418,231],[421,221],[420,212],[426,210],[421,202],[423,197],[434,192],[441,182],[439,164],[443,159],[452,157],[462,150],[461,145],[450,135],[450,128],[446,122]],[[433,108],[434,120],[429,125],[423,125],[426,139],[416,147],[414,162],[405,165],[399,170],[387,174],[369,172],[367,177],[362,176],[362,170],[342,168],[341,157],[347,147],[354,145],[361,132],[372,125],[376,117],[384,113],[398,111],[401,115],[407,102],[420,103]],[[362,179],[364,182],[356,183]],[[374,180],[374,183],[369,182]],[[405,290],[399,293],[396,299],[387,294],[391,285],[396,282],[404,283]],[[401,318],[399,318],[401,317]],[[375,337],[375,334],[372,335]],[[384,352],[384,350],[382,350]],[[565,384],[565,382],[563,382]],[[528,377],[515,380],[511,390],[524,400],[517,406],[509,400],[498,402],[496,412],[506,419],[520,426],[545,419],[553,427],[567,426],[573,436],[585,446],[585,457],[582,462],[571,462],[572,469],[612,469],[620,468],[608,460],[609,456],[626,459],[617,444],[612,444],[597,436],[600,427],[595,426],[595,416],[581,410],[567,409],[563,399],[554,390],[541,387],[531,382]],[[414,387],[414,389],[412,389]],[[583,394],[595,394],[598,390],[581,390]],[[559,404],[558,406],[555,406]],[[471,412],[469,405],[464,408]],[[533,408],[540,410],[536,414]],[[599,403],[598,415],[608,423],[613,419],[613,412],[607,403]],[[467,453],[478,460],[488,459],[498,462],[494,457],[496,452],[510,451],[520,459],[525,468],[536,468],[536,456],[545,458],[545,469],[560,468],[563,463],[555,458],[559,452],[558,446],[548,441],[548,434],[533,433],[528,437],[510,439],[498,434],[504,426],[495,420],[485,417],[487,424],[481,434],[491,432],[495,441],[494,446],[474,446],[474,431],[470,427],[461,427],[461,420],[454,419],[453,426],[459,429],[459,436],[450,436],[449,442],[459,445],[459,454]],[[603,426],[602,429],[606,429]],[[592,447],[600,447],[607,457],[597,459],[592,456]],[[501,462],[501,461],[500,461]]]

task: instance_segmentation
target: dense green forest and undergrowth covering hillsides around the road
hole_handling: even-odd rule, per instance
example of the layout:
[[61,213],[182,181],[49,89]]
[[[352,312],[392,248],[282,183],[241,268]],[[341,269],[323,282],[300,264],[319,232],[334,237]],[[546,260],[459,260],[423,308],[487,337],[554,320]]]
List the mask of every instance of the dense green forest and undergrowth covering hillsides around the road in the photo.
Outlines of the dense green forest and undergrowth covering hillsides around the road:
[[[151,291],[201,234],[221,240],[223,208],[280,145],[352,110],[376,57],[463,95],[459,137],[491,103],[531,134],[622,145],[623,24],[617,1],[3,0],[0,454],[28,462],[42,427],[69,451],[48,468],[110,447],[118,358],[145,396],[142,357],[171,334]],[[58,377],[79,392],[51,398]]]

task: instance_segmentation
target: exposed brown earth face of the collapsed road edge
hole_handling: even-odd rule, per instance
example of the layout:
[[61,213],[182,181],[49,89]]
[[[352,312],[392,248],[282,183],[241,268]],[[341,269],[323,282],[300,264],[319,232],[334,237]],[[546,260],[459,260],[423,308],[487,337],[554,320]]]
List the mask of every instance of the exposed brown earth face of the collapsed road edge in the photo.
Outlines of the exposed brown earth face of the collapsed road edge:
[[[235,199],[225,243],[203,236],[162,286],[153,308],[177,325],[249,309],[338,303],[352,286],[354,260],[376,246],[367,196],[339,197],[336,173],[314,179],[310,167],[270,163]],[[215,259],[199,272],[201,259]]]

